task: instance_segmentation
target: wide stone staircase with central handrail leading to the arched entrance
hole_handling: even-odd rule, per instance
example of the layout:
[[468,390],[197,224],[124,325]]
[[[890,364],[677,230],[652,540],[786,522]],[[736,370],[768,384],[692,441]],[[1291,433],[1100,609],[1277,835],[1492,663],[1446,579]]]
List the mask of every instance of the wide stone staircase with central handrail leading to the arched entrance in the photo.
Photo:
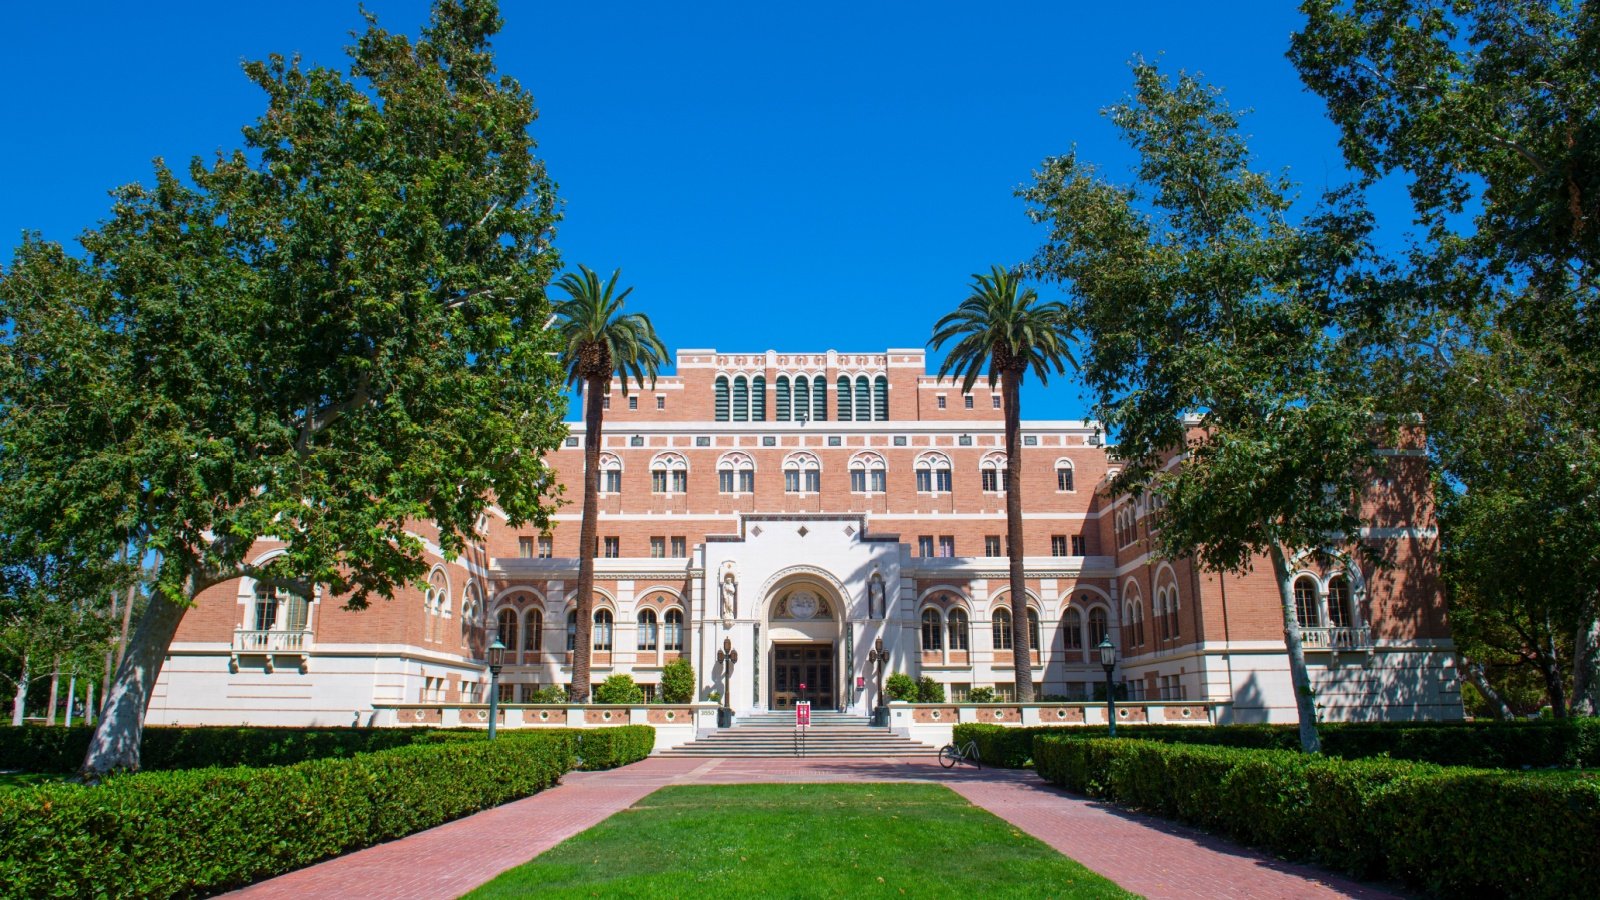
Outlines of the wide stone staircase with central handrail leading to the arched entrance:
[[[938,748],[917,743],[888,729],[867,725],[866,716],[811,713],[805,735],[806,756],[931,756]],[[704,733],[656,756],[800,756],[795,714],[747,713],[731,729]]]

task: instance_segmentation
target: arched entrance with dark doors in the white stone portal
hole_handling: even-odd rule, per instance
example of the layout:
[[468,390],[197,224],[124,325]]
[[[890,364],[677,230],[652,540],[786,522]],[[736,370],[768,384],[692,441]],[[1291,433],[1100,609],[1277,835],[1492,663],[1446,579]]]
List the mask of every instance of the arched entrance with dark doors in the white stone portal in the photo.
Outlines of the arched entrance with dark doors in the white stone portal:
[[792,709],[808,700],[814,709],[838,709],[845,698],[843,602],[822,578],[784,578],[766,599],[768,709]]

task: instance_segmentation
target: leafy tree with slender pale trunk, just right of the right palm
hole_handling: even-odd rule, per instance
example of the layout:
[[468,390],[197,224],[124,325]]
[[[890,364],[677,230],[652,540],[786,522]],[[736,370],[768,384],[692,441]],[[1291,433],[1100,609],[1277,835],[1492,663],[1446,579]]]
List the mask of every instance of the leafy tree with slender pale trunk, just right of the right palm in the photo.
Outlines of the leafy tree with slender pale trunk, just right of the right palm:
[[1218,572],[1272,567],[1301,746],[1315,753],[1290,577],[1301,552],[1365,552],[1330,535],[1358,535],[1376,461],[1346,283],[1368,223],[1344,195],[1291,221],[1291,186],[1250,168],[1219,90],[1142,61],[1133,75],[1109,109],[1138,154],[1133,184],[1075,152],[1045,160],[1021,192],[1050,227],[1034,264],[1072,291],[1085,378],[1122,460],[1110,492],[1155,500],[1152,549]]

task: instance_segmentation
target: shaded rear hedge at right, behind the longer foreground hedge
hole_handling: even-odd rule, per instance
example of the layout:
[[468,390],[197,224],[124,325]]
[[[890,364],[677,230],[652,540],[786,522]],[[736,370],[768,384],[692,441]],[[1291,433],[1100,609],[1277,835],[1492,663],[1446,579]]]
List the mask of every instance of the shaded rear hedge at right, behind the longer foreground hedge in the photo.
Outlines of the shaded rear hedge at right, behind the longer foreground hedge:
[[[1342,759],[1390,756],[1478,769],[1576,767],[1600,764],[1600,719],[1555,722],[1338,722],[1318,727],[1322,751]],[[955,725],[955,741],[978,741],[989,765],[1021,769],[1035,735],[1102,738],[1101,725]],[[1299,749],[1294,725],[1118,725],[1120,737],[1242,749]]]

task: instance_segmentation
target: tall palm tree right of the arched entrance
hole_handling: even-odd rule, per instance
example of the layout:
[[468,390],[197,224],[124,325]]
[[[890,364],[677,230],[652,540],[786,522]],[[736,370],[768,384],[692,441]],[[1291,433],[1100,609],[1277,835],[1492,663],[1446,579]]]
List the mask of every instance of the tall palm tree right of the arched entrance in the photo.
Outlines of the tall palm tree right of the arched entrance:
[[1064,373],[1077,367],[1067,344],[1072,322],[1066,304],[1038,303],[1034,288],[1024,288],[1016,272],[992,266],[987,275],[973,275],[971,293],[955,312],[933,327],[933,349],[955,341],[939,378],[958,375],[962,392],[971,392],[984,367],[989,388],[1000,383],[1005,405],[1005,517],[1006,556],[1011,559],[1011,665],[1016,673],[1016,698],[1034,700],[1034,665],[1029,653],[1027,580],[1022,573],[1022,378],[1032,368],[1045,383],[1050,372]]

